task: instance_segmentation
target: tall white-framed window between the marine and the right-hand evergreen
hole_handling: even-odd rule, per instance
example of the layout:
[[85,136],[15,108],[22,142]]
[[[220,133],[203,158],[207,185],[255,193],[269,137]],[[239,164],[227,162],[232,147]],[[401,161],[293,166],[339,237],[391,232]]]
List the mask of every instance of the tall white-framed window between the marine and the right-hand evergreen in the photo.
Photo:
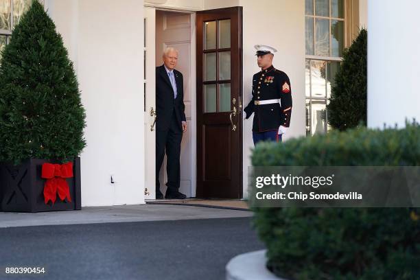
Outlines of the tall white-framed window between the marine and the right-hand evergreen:
[[305,0],[306,135],[329,129],[326,106],[345,47],[345,1]]

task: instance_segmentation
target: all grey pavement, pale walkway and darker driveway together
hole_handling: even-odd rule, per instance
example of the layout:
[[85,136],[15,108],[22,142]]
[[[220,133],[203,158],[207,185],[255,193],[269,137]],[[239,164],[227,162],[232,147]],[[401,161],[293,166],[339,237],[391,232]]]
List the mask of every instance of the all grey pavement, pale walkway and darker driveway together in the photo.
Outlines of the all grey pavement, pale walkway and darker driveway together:
[[224,279],[232,257],[264,248],[250,215],[175,205],[0,213],[0,279]]

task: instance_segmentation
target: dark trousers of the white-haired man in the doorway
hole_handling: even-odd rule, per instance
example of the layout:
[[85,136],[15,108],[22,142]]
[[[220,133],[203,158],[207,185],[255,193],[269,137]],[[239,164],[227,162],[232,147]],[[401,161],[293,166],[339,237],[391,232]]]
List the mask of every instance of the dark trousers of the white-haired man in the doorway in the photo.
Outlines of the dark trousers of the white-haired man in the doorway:
[[180,129],[176,115],[172,115],[172,121],[168,130],[156,130],[156,193],[160,191],[159,171],[167,156],[167,191],[178,191],[180,185],[180,143],[183,139],[183,131]]

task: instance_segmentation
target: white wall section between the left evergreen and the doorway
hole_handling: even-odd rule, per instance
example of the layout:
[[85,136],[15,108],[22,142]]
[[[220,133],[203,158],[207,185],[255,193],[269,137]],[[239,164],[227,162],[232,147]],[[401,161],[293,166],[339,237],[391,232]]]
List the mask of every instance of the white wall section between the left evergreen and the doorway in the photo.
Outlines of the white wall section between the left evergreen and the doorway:
[[144,203],[143,1],[46,6],[75,63],[86,109],[82,206]]

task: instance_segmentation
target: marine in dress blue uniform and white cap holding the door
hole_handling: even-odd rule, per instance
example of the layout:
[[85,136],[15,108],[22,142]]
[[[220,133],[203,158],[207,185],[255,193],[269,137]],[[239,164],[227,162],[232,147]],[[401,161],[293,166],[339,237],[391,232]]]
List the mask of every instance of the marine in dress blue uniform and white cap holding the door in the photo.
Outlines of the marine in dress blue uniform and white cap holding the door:
[[290,126],[292,88],[288,75],[272,66],[277,51],[266,45],[255,45],[261,71],[253,76],[253,97],[244,108],[246,119],[254,113],[253,140],[281,141]]

